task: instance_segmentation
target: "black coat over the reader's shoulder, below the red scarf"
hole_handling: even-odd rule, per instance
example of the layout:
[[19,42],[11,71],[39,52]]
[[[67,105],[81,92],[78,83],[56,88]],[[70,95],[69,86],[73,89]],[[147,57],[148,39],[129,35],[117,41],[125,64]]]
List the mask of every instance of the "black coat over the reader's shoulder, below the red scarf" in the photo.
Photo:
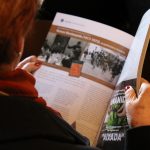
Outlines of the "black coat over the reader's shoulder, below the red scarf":
[[28,97],[0,96],[0,150],[99,150]]

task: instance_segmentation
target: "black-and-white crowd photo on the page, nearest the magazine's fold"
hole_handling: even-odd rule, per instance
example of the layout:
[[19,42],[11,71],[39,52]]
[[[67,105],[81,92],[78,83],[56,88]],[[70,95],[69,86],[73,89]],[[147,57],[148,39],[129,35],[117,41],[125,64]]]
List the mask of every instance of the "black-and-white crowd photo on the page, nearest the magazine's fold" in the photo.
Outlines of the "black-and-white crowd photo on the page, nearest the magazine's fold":
[[125,62],[118,52],[89,43],[82,54],[82,72],[103,81],[116,84]]

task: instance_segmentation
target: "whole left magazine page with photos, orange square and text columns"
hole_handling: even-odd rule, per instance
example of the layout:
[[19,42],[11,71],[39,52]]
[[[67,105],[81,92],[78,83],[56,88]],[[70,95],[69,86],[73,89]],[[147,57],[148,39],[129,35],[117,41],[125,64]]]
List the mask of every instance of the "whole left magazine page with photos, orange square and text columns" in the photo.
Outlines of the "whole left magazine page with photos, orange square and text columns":
[[39,95],[91,145],[132,41],[133,36],[110,26],[57,13],[41,48],[38,58],[48,66],[34,74]]

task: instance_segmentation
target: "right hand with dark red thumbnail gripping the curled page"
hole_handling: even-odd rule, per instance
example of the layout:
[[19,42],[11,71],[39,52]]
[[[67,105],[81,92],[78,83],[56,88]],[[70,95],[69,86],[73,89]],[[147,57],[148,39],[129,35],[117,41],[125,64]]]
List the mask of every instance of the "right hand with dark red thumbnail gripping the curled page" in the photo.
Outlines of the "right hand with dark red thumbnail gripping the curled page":
[[129,86],[125,92],[126,115],[131,127],[150,125],[150,83],[142,79],[138,96]]

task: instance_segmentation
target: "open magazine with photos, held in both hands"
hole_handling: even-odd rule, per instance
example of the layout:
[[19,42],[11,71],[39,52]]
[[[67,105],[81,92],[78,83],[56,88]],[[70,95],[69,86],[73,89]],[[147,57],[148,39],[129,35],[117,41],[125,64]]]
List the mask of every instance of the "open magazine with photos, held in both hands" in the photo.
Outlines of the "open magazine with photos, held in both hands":
[[[150,11],[135,37],[85,18],[57,13],[38,56],[36,88],[91,145],[123,149],[128,129],[124,88],[139,88]],[[138,91],[137,91],[138,92]]]

